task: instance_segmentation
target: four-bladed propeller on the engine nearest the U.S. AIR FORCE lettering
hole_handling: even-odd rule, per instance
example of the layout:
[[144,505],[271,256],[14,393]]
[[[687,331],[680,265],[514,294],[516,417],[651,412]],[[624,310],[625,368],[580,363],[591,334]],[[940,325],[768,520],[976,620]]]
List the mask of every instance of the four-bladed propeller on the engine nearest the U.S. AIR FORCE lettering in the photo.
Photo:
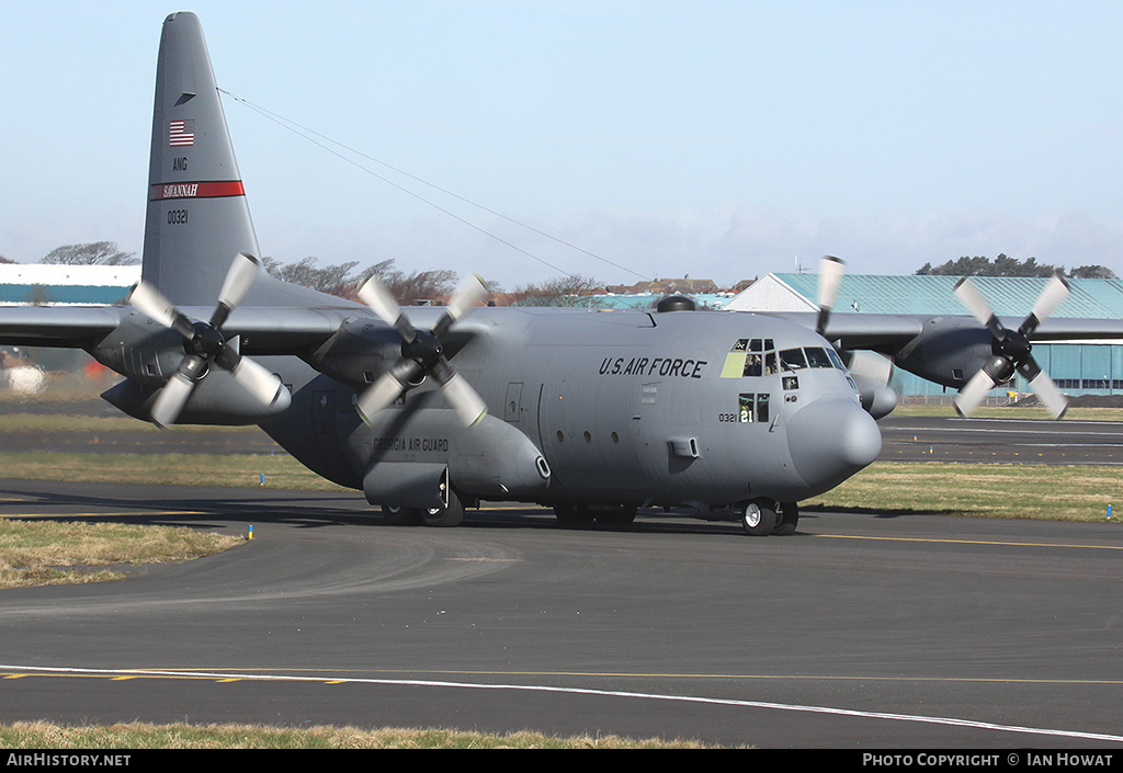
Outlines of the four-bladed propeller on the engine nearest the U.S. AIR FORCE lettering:
[[448,364],[440,338],[453,322],[480,302],[485,292],[480,278],[468,275],[453,294],[444,316],[432,329],[418,330],[377,279],[372,276],[359,288],[359,299],[402,337],[402,358],[371,384],[355,406],[364,421],[371,424],[376,412],[393,404],[402,392],[420,384],[427,375],[431,375],[440,384],[445,399],[465,425],[471,427],[484,418],[487,406],[464,376]]

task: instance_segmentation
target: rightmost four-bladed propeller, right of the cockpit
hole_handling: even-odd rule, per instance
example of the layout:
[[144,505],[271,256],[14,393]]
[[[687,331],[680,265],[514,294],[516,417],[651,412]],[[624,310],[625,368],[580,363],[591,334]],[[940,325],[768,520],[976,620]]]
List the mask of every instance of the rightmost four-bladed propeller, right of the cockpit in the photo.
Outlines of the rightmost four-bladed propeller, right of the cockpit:
[[1004,384],[1021,373],[1030,382],[1030,389],[1046,407],[1050,416],[1059,419],[1068,409],[1068,399],[1061,394],[1049,374],[1041,370],[1031,354],[1033,346],[1030,336],[1038,326],[1057,310],[1057,307],[1068,298],[1068,282],[1054,275],[1038,297],[1030,310],[1030,316],[1019,326],[1017,330],[1004,327],[995,316],[983,293],[978,291],[970,278],[965,276],[956,283],[956,297],[990,331],[992,356],[970,378],[967,384],[956,395],[956,410],[960,416],[970,415],[986,393],[998,384]]

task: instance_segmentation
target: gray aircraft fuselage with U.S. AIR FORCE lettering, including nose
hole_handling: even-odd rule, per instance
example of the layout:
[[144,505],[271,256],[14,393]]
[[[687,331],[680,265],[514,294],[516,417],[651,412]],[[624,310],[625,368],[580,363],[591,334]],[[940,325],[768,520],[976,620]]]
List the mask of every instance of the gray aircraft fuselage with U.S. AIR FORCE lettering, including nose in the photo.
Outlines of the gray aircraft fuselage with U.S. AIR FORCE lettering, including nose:
[[[411,319],[423,327],[439,312],[411,310]],[[427,383],[363,424],[356,391],[393,362],[398,343],[369,320],[313,362],[335,378],[292,358],[263,360],[293,391],[289,410],[263,427],[313,471],[356,489],[372,467],[431,464],[447,465],[469,499],[797,501],[880,448],[830,345],[774,318],[478,309],[449,334],[453,364],[489,406],[475,427],[462,426]],[[377,486],[366,489],[380,503]]]

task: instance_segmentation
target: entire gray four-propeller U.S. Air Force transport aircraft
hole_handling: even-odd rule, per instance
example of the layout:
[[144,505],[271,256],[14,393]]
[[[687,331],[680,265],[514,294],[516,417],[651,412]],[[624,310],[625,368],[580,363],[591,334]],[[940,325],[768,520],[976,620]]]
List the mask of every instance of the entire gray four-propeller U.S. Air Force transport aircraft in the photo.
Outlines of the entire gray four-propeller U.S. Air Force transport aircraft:
[[[0,343],[80,347],[126,376],[103,397],[130,416],[258,424],[387,518],[432,526],[492,500],[549,506],[567,524],[691,506],[750,535],[791,534],[796,502],[877,457],[874,415],[895,400],[887,373],[856,360],[851,375],[839,351],[875,349],[953,387],[978,371],[965,411],[1015,371],[1063,409],[1028,343],[1048,333],[1039,320],[1060,283],[1017,329],[970,285],[978,321],[831,317],[833,260],[810,319],[681,298],[649,311],[476,308],[473,278],[447,307],[403,312],[373,282],[356,303],[277,281],[258,254],[201,26],[174,13],[141,282],[125,306],[0,309]],[[1053,334],[1123,335],[1120,322],[1068,321]]]

